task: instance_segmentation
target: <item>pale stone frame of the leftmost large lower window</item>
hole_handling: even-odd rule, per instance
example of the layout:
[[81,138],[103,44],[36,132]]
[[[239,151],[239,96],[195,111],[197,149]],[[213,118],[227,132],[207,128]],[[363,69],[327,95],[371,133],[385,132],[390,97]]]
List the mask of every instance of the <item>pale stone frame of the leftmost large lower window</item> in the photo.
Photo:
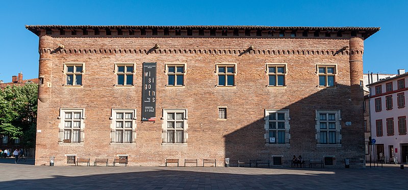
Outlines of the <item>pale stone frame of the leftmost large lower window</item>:
[[[78,143],[73,143],[73,142],[64,142],[64,133],[65,133],[65,113],[66,112],[81,112],[81,126],[79,128],[80,130],[80,141]],[[58,138],[58,144],[69,144],[69,145],[83,145],[84,144],[84,139],[85,139],[85,108],[60,108],[60,115],[58,116],[58,119],[60,119],[60,122],[58,124],[58,129],[59,129],[59,138]],[[71,127],[71,130],[73,130],[73,127]],[[72,139],[72,135],[71,135]]]

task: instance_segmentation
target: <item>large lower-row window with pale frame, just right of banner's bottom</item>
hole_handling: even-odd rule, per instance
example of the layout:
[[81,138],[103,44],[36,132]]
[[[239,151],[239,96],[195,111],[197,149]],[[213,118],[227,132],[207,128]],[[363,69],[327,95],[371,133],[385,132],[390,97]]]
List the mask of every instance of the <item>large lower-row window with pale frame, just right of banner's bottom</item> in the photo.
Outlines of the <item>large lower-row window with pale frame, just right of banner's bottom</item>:
[[187,143],[187,109],[163,109],[163,143]]

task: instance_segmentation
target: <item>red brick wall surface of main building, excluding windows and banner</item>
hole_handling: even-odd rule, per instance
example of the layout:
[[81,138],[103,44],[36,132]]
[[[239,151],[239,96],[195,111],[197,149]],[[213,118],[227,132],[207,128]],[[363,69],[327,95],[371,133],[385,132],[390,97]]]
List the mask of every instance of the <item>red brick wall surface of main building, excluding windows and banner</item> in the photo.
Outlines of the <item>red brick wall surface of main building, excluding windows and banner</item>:
[[[129,154],[131,166],[163,166],[166,158],[199,159],[199,162],[211,158],[221,165],[226,156],[235,164],[238,159],[271,160],[271,155],[283,155],[286,164],[290,164],[294,154],[301,154],[305,160],[334,155],[337,165],[341,165],[345,157],[359,162],[364,156],[363,120],[360,120],[363,112],[359,110],[362,102],[353,105],[350,101],[350,69],[353,67],[350,67],[348,50],[333,55],[350,43],[348,39],[307,38],[42,36],[39,76],[44,76],[44,85],[39,87],[37,130],[41,133],[37,133],[36,165],[47,164],[50,155],[56,156],[56,165],[66,165],[65,154],[91,160],[107,157],[112,161],[116,154]],[[65,48],[52,52],[57,44]],[[144,53],[155,44],[160,45],[156,52]],[[254,51],[238,56],[238,50],[242,52],[250,45]],[[85,63],[82,87],[64,86],[64,62]],[[133,87],[114,86],[115,62],[136,64]],[[156,122],[140,121],[143,62],[157,62]],[[184,88],[165,87],[165,64],[174,62],[186,64]],[[215,65],[220,63],[237,64],[235,88],[215,87],[218,80]],[[266,87],[266,63],[287,64],[287,87]],[[336,87],[317,87],[316,64],[337,64]],[[362,75],[360,68],[358,72]],[[228,107],[226,121],[217,120],[217,106]],[[58,144],[60,108],[85,108],[83,145]],[[136,143],[110,144],[112,120],[109,117],[115,108],[137,109]],[[161,144],[162,110],[171,108],[188,109],[188,146]],[[267,147],[264,110],[284,108],[290,110],[290,146]],[[316,147],[315,110],[320,109],[341,110],[341,147]],[[346,121],[352,121],[352,125],[345,126]]]

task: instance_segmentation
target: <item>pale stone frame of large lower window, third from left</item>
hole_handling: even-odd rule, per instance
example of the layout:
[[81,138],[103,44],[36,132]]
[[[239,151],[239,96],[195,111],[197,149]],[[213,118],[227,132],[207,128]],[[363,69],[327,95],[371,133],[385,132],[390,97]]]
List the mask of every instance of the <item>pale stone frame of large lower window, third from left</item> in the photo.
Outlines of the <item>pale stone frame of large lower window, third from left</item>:
[[[167,140],[167,113],[184,113],[183,119],[183,143],[168,143]],[[176,116],[174,115],[174,118]],[[187,145],[188,142],[188,110],[187,109],[163,109],[162,145]],[[174,129],[176,126],[174,126]],[[175,133],[174,133],[175,136]]]

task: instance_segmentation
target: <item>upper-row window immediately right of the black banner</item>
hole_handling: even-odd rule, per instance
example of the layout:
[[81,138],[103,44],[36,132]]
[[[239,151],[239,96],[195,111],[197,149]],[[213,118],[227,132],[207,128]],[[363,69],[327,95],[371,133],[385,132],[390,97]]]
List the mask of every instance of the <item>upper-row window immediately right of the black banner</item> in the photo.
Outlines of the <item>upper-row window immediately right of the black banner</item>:
[[184,64],[166,65],[167,86],[184,86],[186,66]]

